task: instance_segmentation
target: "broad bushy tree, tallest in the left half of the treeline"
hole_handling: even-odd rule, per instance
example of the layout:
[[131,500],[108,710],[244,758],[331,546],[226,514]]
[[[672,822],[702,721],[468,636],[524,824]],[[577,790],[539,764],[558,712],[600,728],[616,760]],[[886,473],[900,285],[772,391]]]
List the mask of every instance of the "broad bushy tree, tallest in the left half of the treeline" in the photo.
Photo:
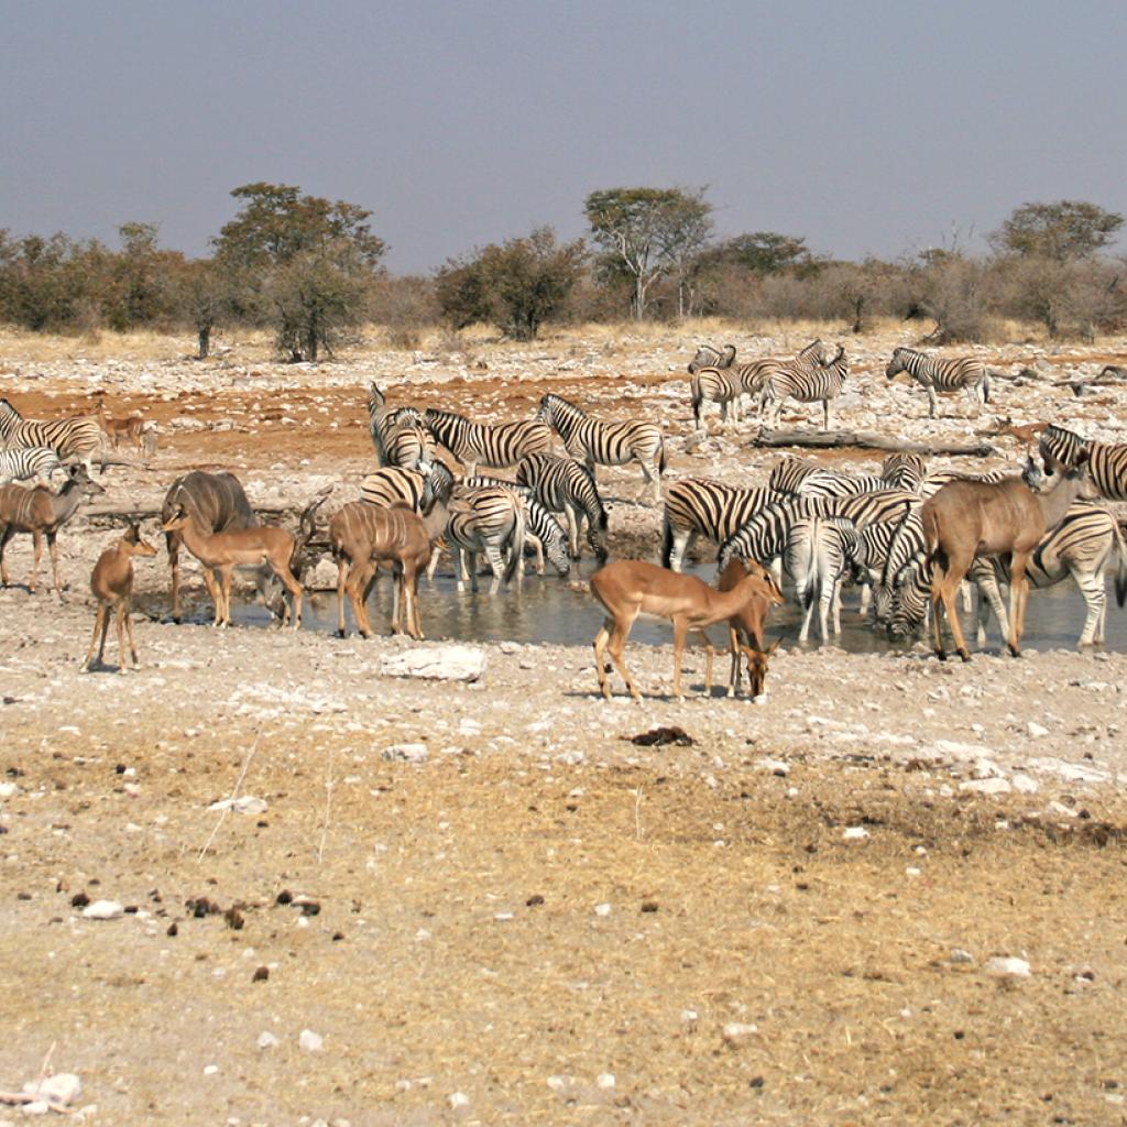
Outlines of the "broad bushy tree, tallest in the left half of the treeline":
[[242,208],[213,242],[236,307],[273,325],[294,360],[331,352],[336,332],[363,316],[387,249],[372,213],[289,185],[245,184],[231,195]]

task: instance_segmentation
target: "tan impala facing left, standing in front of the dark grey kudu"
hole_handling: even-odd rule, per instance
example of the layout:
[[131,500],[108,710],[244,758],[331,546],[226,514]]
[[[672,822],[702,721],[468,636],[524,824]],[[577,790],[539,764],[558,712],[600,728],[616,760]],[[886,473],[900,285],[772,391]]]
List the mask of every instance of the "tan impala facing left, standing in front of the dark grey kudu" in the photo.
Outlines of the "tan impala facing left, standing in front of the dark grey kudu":
[[[293,577],[295,565],[304,544],[285,529],[263,524],[252,529],[228,529],[208,533],[183,505],[161,525],[165,533],[176,532],[189,552],[203,565],[207,594],[215,604],[216,627],[231,624],[231,573],[237,567],[268,565],[290,592],[293,609],[286,609],[283,624],[291,619],[294,630],[301,625],[301,584]],[[219,580],[214,573],[219,573]]]

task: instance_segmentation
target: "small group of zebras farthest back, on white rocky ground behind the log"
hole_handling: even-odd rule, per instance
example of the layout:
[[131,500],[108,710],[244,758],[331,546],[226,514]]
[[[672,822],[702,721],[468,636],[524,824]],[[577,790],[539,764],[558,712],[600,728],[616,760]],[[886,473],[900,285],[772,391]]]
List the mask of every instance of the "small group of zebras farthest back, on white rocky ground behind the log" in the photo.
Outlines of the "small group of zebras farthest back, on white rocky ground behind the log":
[[[934,418],[935,392],[966,392],[970,406],[980,410],[990,402],[990,375],[985,365],[971,357],[943,358],[930,356],[914,348],[896,348],[885,370],[893,380],[906,372],[928,392],[929,416]],[[701,345],[689,362],[692,376],[690,394],[693,420],[698,428],[706,402],[720,407],[720,419],[727,421],[729,411],[738,421],[742,400],[748,396],[756,405],[761,421],[778,426],[783,403],[793,399],[800,403],[822,403],[823,429],[829,429],[831,403],[845,387],[849,362],[844,347],[831,356],[822,340],[811,340],[795,357],[763,357],[749,364],[736,363],[736,348],[722,349]]]

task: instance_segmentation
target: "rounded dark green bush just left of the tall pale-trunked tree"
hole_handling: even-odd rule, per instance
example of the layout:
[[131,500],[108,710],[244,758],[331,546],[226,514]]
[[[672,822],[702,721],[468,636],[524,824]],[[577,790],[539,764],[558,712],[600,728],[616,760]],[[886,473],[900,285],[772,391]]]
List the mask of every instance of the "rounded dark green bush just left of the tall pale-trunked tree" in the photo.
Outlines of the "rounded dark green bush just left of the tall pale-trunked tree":
[[532,340],[567,301],[585,258],[582,239],[560,246],[550,227],[540,227],[440,269],[438,303],[455,328],[488,320],[516,340]]

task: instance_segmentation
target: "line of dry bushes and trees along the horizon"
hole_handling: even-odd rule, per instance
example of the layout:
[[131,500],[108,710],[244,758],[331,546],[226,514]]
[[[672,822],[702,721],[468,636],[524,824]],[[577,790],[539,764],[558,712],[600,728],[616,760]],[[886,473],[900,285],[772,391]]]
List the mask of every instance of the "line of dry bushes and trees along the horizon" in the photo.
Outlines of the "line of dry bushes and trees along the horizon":
[[190,259],[126,223],[121,246],[0,231],[0,319],[33,330],[192,331],[206,356],[216,327],[273,330],[279,352],[317,360],[356,326],[385,326],[405,347],[429,328],[495,325],[531,339],[547,323],[727,317],[841,321],[914,319],[937,344],[990,340],[1004,321],[1091,339],[1127,325],[1127,263],[1108,254],[1122,216],[1076,201],[1023,204],[990,237],[895,261],[840,261],[801,237],[717,238],[704,190],[614,188],[585,202],[586,239],[549,228],[392,277],[371,213],[299,188],[236,188],[234,218]]

